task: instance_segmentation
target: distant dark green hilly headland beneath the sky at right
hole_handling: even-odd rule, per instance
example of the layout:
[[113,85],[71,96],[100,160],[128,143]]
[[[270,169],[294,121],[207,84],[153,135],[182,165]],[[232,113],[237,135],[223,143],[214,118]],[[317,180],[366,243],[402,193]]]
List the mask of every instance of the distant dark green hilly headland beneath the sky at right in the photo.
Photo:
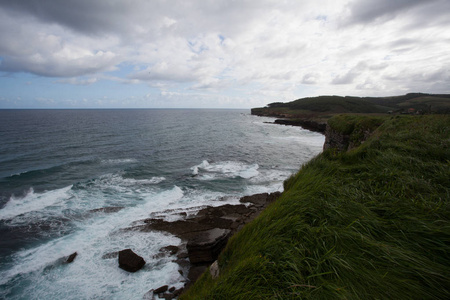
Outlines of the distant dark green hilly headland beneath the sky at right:
[[411,93],[393,97],[319,96],[292,102],[274,102],[266,107],[253,108],[252,114],[285,116],[290,118],[328,118],[340,113],[391,112],[450,113],[450,95]]

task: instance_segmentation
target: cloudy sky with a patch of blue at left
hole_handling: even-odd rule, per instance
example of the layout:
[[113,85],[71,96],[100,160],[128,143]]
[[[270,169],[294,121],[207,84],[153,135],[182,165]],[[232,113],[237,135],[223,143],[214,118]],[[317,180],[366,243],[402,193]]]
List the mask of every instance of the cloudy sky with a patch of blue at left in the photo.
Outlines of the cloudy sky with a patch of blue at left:
[[0,0],[0,108],[450,93],[450,0]]

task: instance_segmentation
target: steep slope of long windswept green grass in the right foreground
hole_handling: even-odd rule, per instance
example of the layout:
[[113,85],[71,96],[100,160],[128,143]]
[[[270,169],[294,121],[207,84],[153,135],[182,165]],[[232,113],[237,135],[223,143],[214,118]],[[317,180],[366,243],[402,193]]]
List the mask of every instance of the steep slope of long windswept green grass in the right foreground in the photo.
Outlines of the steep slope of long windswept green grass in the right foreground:
[[449,116],[386,118],[288,179],[182,299],[449,299],[449,163]]

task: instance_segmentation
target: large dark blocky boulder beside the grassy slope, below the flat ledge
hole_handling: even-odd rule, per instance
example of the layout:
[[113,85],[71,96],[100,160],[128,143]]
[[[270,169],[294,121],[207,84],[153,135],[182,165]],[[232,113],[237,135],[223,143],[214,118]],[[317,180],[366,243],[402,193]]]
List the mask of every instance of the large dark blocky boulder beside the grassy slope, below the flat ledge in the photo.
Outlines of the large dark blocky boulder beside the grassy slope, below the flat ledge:
[[186,245],[190,262],[197,264],[215,261],[225,247],[230,233],[229,229],[221,228],[195,233]]

